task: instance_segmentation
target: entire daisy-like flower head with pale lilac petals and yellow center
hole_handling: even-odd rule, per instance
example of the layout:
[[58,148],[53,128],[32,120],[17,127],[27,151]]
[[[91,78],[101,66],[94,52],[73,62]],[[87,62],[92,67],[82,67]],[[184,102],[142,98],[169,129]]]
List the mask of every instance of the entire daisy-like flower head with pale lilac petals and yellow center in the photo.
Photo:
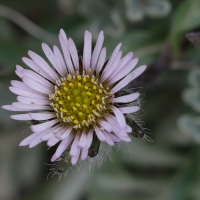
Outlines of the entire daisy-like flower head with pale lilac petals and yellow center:
[[[140,66],[132,71],[138,59],[130,52],[122,57],[121,44],[106,61],[106,48],[102,48],[104,35],[99,33],[92,52],[92,35],[85,31],[83,58],[78,57],[76,46],[61,29],[59,41],[53,50],[42,43],[50,65],[39,55],[28,51],[30,58],[22,58],[32,70],[16,66],[21,81],[11,81],[11,92],[18,95],[18,102],[3,106],[10,111],[24,114],[11,115],[12,119],[37,122],[31,125],[33,134],[20,146],[30,148],[42,141],[48,146],[59,143],[51,161],[56,161],[68,151],[71,164],[80,157],[94,156],[90,152],[95,141],[113,146],[120,141],[130,142],[132,128],[125,116],[139,110],[129,104],[138,99],[139,93],[120,96],[129,82],[146,69]],[[35,112],[36,111],[36,112]]]

